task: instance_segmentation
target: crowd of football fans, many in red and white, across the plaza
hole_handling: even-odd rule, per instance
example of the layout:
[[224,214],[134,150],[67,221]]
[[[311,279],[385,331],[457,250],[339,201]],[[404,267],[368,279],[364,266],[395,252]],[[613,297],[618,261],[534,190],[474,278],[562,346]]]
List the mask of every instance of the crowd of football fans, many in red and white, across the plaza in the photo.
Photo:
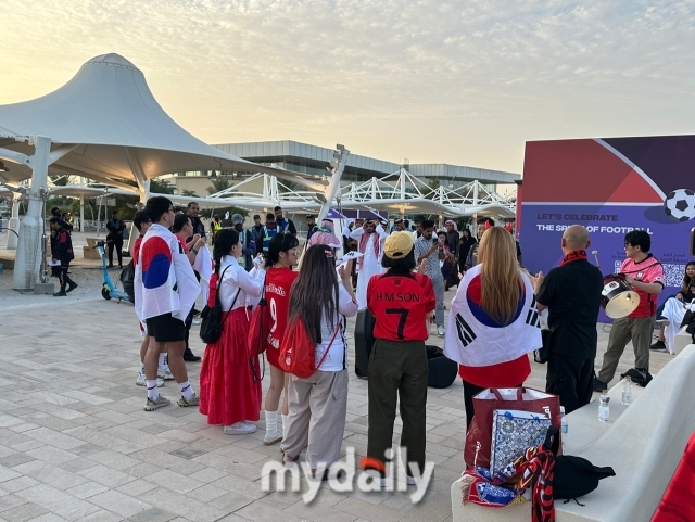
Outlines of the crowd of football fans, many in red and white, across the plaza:
[[[239,214],[227,221],[229,228],[214,216],[210,235],[199,212],[191,203],[177,214],[168,199],[156,196],[134,218],[139,232],[132,249],[135,305],[142,334],[136,383],[147,387],[144,409],[169,405],[160,387],[176,381],[178,406],[198,407],[225,434],[254,433],[263,413],[264,444],[281,443],[288,464],[306,450],[312,474],[324,473],[317,479],[328,478],[324,466],[330,467],[340,454],[349,386],[346,319],[358,310],[374,316],[375,341],[368,352],[369,428],[361,466],[375,470],[386,484],[397,407],[401,446],[409,456],[407,482],[414,483],[425,469],[425,343],[430,334],[444,338],[444,353],[459,364],[467,424],[475,415],[472,397],[485,387],[522,385],[531,372],[528,354],[544,342],[549,353],[546,391],[558,395],[570,412],[587,404],[594,390],[606,389],[628,342],[634,346],[635,368],[644,371],[649,348],[668,344],[672,349],[673,329],[668,326],[680,323],[695,298],[692,262],[681,291],[657,310],[661,265],[649,254],[649,235],[629,232],[621,272],[641,302],[633,314],[615,321],[596,375],[604,283],[587,259],[591,241],[584,227],[565,230],[563,260],[544,276],[522,267],[514,230],[495,226],[491,218],[479,219],[472,231],[459,231],[453,220],[438,230],[428,219],[416,220],[414,229],[407,220],[395,219],[387,231],[387,221],[355,219],[341,240],[332,220],[319,225],[307,216],[307,241],[300,251],[296,227],[280,207],[268,213],[265,224],[253,216],[249,228]],[[77,287],[67,276],[70,231],[62,216],[53,216],[50,224],[53,272],[61,281],[59,293],[66,294]],[[106,226],[113,249],[121,252],[125,225],[114,213]],[[206,345],[197,392],[186,361],[201,359],[188,346],[201,282],[204,303],[219,303],[223,334]],[[445,324],[444,292],[452,288],[456,295]],[[247,342],[260,303],[265,305],[260,339],[270,381],[265,402],[262,365],[257,355],[249,355]],[[543,341],[538,317],[545,308],[549,334]],[[649,346],[655,316],[667,328]],[[286,373],[279,360],[286,332],[298,323],[315,346],[316,371],[308,378]]]

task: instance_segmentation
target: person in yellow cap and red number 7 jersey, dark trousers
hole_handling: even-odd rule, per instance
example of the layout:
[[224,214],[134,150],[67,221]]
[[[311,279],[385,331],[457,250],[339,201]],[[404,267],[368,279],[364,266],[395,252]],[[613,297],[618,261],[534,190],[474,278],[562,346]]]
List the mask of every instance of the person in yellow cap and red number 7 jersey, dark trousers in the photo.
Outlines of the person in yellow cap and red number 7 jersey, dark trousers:
[[[428,276],[415,273],[413,235],[394,232],[384,243],[383,275],[367,285],[367,308],[375,316],[375,343],[369,356],[369,431],[365,469],[381,473],[387,484],[386,450],[391,448],[396,400],[401,400],[401,446],[408,484],[425,471],[425,406],[427,403],[426,317],[434,309],[434,290]],[[419,470],[408,468],[417,462]]]

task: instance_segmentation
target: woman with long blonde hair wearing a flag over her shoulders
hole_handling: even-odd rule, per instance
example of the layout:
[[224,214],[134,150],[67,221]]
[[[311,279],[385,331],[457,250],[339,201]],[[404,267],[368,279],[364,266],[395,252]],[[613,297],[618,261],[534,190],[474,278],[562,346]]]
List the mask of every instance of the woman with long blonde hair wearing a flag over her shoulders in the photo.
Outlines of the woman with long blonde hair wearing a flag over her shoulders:
[[486,387],[517,387],[531,374],[528,353],[541,346],[533,287],[502,227],[482,234],[478,265],[452,300],[444,354],[459,362],[467,425],[472,397]]

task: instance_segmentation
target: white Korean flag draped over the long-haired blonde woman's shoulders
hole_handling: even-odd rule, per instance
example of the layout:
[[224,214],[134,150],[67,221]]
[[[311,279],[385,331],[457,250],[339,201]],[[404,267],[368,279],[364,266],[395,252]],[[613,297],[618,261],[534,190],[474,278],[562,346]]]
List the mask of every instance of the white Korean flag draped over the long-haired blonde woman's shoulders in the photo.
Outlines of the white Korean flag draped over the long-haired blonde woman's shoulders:
[[542,346],[540,314],[533,287],[526,275],[519,306],[509,324],[502,326],[480,305],[481,266],[466,272],[452,300],[444,355],[468,367],[501,365]]

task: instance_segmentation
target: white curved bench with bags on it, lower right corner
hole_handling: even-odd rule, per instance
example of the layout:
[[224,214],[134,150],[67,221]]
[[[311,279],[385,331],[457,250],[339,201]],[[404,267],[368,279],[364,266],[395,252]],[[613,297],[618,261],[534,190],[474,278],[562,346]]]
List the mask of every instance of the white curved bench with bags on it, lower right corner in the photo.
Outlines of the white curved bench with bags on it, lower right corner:
[[[616,476],[576,502],[555,502],[557,522],[648,521],[695,429],[695,345],[682,349],[645,389],[633,386],[632,404],[620,404],[622,382],[610,395],[610,420],[597,420],[598,405],[567,416],[567,454],[610,466]],[[463,467],[463,462],[462,462]],[[463,471],[463,470],[462,470]],[[454,522],[529,521],[531,504],[502,509],[462,504],[460,480],[451,488]]]

